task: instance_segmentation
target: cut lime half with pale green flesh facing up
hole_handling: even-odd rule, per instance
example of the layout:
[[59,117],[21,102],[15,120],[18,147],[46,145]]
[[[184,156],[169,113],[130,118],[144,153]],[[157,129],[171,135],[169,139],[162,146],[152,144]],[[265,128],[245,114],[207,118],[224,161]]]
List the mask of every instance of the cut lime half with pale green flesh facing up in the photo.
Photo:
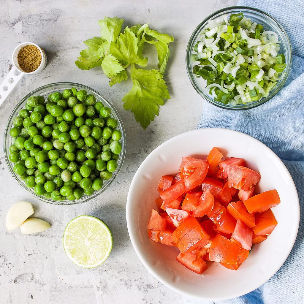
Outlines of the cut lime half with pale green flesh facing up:
[[75,217],[63,233],[63,247],[67,257],[82,268],[101,265],[108,258],[112,244],[109,227],[94,216]]

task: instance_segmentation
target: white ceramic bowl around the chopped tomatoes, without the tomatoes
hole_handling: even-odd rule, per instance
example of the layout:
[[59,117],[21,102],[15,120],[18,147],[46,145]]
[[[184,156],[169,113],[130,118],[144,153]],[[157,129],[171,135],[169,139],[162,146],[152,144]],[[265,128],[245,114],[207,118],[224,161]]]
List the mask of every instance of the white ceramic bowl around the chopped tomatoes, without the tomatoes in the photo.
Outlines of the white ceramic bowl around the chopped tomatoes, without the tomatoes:
[[[252,247],[237,271],[210,263],[198,275],[176,261],[178,249],[151,241],[147,223],[162,175],[178,172],[181,157],[206,157],[218,147],[227,157],[242,157],[261,174],[257,191],[277,189],[281,203],[273,208],[278,225],[267,240]],[[130,186],[126,220],[133,247],[145,267],[176,292],[206,300],[230,299],[264,284],[285,262],[299,228],[299,199],[295,184],[278,156],[260,141],[227,129],[200,129],[167,140],[143,161]]]

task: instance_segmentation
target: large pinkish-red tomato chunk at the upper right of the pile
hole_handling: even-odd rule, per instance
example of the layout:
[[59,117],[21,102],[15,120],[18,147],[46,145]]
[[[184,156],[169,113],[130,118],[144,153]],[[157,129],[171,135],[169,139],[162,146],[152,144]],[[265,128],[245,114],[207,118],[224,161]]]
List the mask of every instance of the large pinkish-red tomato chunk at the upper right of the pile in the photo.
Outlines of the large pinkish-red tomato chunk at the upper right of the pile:
[[257,172],[243,167],[243,166],[230,166],[228,174],[228,187],[236,188],[239,190],[248,191],[261,179],[260,174]]

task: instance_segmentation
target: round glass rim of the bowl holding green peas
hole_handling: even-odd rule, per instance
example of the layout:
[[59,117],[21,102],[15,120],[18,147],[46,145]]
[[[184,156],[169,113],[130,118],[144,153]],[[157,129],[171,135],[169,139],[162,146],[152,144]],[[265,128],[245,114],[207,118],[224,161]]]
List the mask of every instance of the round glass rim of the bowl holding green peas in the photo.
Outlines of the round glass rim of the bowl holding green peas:
[[[24,184],[24,182],[22,180],[20,180],[20,178],[15,174],[15,172],[12,171],[12,168],[10,166],[10,161],[9,161],[9,158],[8,158],[9,150],[8,150],[8,147],[6,147],[6,137],[9,136],[9,124],[14,119],[14,117],[16,115],[16,112],[17,112],[17,109],[21,105],[21,103],[25,102],[26,99],[29,98],[30,96],[35,95],[36,92],[39,92],[43,89],[53,88],[53,87],[54,87],[54,90],[56,90],[56,86],[60,86],[60,85],[61,86],[68,86],[70,88],[73,88],[73,87],[78,88],[79,87],[81,89],[91,91],[96,95],[96,97],[98,97],[99,99],[104,100],[106,103],[108,103],[110,105],[110,107],[112,108],[112,110],[115,112],[115,115],[118,118],[119,127],[121,128],[121,133],[122,133],[122,138],[121,138],[122,151],[121,151],[121,154],[119,154],[120,159],[118,161],[118,167],[113,172],[112,177],[109,180],[105,181],[106,182],[105,185],[100,190],[95,191],[92,195],[84,195],[80,199],[75,199],[75,200],[72,200],[72,201],[69,201],[67,199],[64,199],[62,201],[58,201],[58,200],[55,201],[55,200],[52,200],[52,199],[47,199],[43,195],[37,195],[36,193],[32,192],[31,189],[27,188],[26,185]],[[60,88],[58,90],[63,90],[63,89]],[[12,112],[11,112],[11,114],[10,114],[8,120],[7,120],[7,124],[5,126],[5,131],[4,131],[4,135],[3,135],[3,142],[4,142],[3,150],[4,150],[5,163],[6,163],[7,168],[9,169],[9,172],[12,175],[13,179],[27,193],[36,197],[40,201],[43,201],[43,202],[46,202],[46,203],[49,203],[49,204],[52,204],[52,205],[62,205],[62,206],[75,205],[75,204],[88,202],[89,200],[94,199],[95,197],[97,197],[98,195],[103,193],[112,184],[112,182],[115,180],[116,176],[118,175],[118,173],[120,172],[120,170],[123,166],[123,162],[124,162],[125,156],[126,156],[126,132],[125,132],[125,128],[123,126],[123,121],[122,121],[117,109],[115,108],[115,106],[111,102],[109,102],[109,100],[107,98],[105,98],[101,93],[97,92],[95,89],[93,89],[91,87],[88,87],[87,85],[82,85],[82,84],[76,83],[76,82],[66,82],[66,81],[53,82],[53,83],[38,87],[38,88],[34,89],[32,92],[25,95],[23,98],[21,98],[20,101],[16,104],[16,106],[12,110]]]

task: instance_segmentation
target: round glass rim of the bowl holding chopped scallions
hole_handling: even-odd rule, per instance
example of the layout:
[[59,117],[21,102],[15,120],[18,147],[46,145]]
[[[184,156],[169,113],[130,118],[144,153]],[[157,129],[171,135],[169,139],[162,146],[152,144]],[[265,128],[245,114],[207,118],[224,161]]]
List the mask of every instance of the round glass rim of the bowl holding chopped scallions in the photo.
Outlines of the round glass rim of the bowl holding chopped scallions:
[[[192,50],[190,49],[192,41],[197,36],[197,34],[198,34],[199,30],[201,29],[202,25],[204,23],[206,23],[207,21],[209,21],[210,19],[212,19],[215,15],[223,13],[223,12],[226,12],[226,11],[229,11],[229,10],[232,10],[232,9],[235,9],[235,10],[245,10],[245,11],[247,10],[247,11],[257,12],[257,13],[259,13],[261,15],[265,15],[268,18],[270,18],[273,22],[276,23],[276,25],[278,26],[278,28],[282,31],[283,36],[286,38],[286,44],[287,44],[287,51],[286,51],[286,53],[290,54],[290,60],[289,60],[289,63],[287,64],[287,66],[286,66],[286,71],[284,71],[285,72],[284,77],[282,78],[282,81],[280,81],[279,85],[271,92],[273,94],[270,93],[267,97],[264,97],[263,99],[261,99],[260,102],[252,103],[252,105],[247,104],[247,105],[244,105],[242,107],[233,107],[233,106],[227,106],[227,105],[224,105],[224,104],[220,104],[220,103],[215,102],[214,99],[212,99],[208,95],[203,94],[202,89],[199,88],[194,83],[194,81],[193,81],[193,79],[194,79],[193,77],[194,76],[193,76],[193,73],[192,73],[191,60],[189,60],[190,55],[192,54]],[[283,88],[283,86],[284,86],[284,84],[285,84],[285,82],[286,82],[286,80],[288,78],[289,72],[291,70],[291,66],[292,66],[292,47],[291,47],[291,43],[290,43],[289,37],[288,37],[285,29],[282,27],[282,25],[274,17],[272,17],[271,15],[269,15],[268,13],[264,12],[261,9],[257,9],[257,8],[253,8],[253,7],[248,7],[248,6],[241,6],[241,5],[238,6],[238,5],[236,5],[236,6],[229,6],[229,7],[223,8],[223,9],[219,9],[216,12],[213,12],[212,14],[210,14],[209,16],[207,16],[204,20],[202,20],[202,22],[199,23],[199,25],[195,28],[195,30],[193,31],[193,33],[190,36],[190,39],[188,41],[187,48],[186,48],[185,60],[186,60],[186,70],[187,70],[188,78],[189,78],[189,80],[190,80],[193,88],[195,89],[195,91],[202,98],[204,98],[210,104],[215,105],[215,106],[217,106],[217,107],[219,107],[221,109],[233,110],[233,111],[241,111],[241,110],[253,109],[253,108],[255,108],[255,107],[259,106],[259,105],[263,105],[264,103],[268,102],[273,97],[275,97],[275,95],[277,95],[281,91],[281,89]]]

